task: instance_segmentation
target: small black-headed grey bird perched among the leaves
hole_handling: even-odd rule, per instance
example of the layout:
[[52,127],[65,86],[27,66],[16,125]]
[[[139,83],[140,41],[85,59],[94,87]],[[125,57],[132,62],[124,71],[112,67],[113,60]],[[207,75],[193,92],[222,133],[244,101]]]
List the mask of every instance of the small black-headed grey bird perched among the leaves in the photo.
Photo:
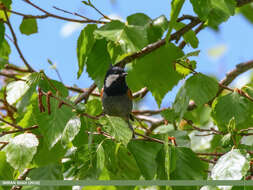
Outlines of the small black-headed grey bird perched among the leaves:
[[101,96],[104,113],[125,119],[134,137],[134,130],[129,121],[133,120],[132,93],[126,84],[126,75],[127,72],[123,68],[111,66],[106,73]]

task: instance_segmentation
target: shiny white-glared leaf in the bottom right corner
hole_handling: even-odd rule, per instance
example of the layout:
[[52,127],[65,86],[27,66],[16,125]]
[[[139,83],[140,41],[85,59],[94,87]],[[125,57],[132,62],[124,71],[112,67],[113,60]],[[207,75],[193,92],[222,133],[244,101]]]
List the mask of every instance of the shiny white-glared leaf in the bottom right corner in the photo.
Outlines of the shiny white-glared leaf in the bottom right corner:
[[211,171],[213,180],[241,180],[250,168],[249,156],[233,149],[221,156]]

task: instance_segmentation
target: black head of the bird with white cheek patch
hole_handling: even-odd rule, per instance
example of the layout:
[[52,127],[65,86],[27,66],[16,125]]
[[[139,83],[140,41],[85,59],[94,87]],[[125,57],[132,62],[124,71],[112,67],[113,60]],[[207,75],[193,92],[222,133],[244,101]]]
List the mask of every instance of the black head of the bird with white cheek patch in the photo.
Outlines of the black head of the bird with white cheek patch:
[[121,67],[111,67],[105,76],[104,91],[108,96],[118,96],[127,93],[127,73]]

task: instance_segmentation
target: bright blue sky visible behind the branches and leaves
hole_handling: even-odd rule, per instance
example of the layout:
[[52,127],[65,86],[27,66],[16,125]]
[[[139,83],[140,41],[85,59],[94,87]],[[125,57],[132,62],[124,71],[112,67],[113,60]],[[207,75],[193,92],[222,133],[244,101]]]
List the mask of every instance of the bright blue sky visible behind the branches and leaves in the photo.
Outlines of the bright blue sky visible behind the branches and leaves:
[[[50,13],[72,17],[53,8],[56,6],[70,12],[78,12],[88,18],[99,19],[101,16],[90,7],[85,6],[80,0],[44,0],[34,1],[36,5],[47,10]],[[93,4],[104,14],[112,18],[126,19],[127,16],[142,12],[152,19],[165,15],[169,19],[170,1],[147,1],[147,0],[103,0],[92,1]],[[41,15],[42,12],[27,5],[22,0],[15,0],[12,3],[12,10],[25,14]],[[189,1],[181,11],[181,15],[195,15]],[[78,18],[78,17],[76,17]],[[56,64],[63,82],[66,85],[77,85],[80,88],[89,87],[92,80],[84,72],[77,80],[78,62],[76,56],[76,44],[80,31],[84,24],[71,23],[54,18],[38,19],[38,33],[30,36],[23,35],[19,32],[19,25],[22,17],[11,15],[11,23],[16,32],[20,48],[33,68],[37,71],[43,69],[46,74],[56,80],[59,80],[55,71],[50,68],[47,60],[50,59]],[[10,35],[10,32],[7,30]],[[225,77],[226,72],[233,69],[236,64],[249,61],[253,58],[253,24],[249,23],[242,15],[238,14],[220,25],[220,30],[204,29],[198,34],[199,47],[195,50],[201,50],[200,55],[194,58],[198,65],[197,71],[204,74],[215,75],[218,79]],[[12,53],[10,62],[22,65],[16,49],[10,43]],[[212,52],[219,49],[222,52],[219,56],[211,56]],[[190,47],[184,49],[185,52],[194,51]],[[242,85],[247,82],[247,75],[239,77],[236,83]],[[182,82],[180,83],[182,84]],[[162,107],[171,105],[178,87],[166,95]],[[146,98],[147,108],[156,108],[157,105],[149,94]],[[144,106],[145,107],[145,106]]]

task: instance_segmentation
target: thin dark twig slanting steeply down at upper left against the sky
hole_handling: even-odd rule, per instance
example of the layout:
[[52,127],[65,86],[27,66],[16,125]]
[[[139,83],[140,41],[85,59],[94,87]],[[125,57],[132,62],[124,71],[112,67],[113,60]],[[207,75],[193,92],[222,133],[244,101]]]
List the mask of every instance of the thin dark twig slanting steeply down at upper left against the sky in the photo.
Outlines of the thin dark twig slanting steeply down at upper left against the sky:
[[9,27],[9,29],[10,29],[10,31],[11,31],[11,35],[12,35],[12,37],[13,37],[13,43],[14,43],[14,45],[15,45],[17,51],[18,51],[18,54],[19,54],[20,58],[23,60],[24,64],[25,64],[26,67],[28,68],[28,70],[29,70],[30,72],[34,72],[34,69],[28,64],[28,62],[26,61],[26,59],[25,59],[23,53],[21,52],[21,50],[20,50],[20,48],[19,48],[18,40],[17,40],[16,34],[15,34],[13,28],[12,28],[12,25],[11,25],[11,23],[10,23],[10,20],[9,20],[8,15],[7,15],[6,9],[3,8],[3,11],[4,11],[5,18],[6,18],[6,24],[7,24],[7,26]]

